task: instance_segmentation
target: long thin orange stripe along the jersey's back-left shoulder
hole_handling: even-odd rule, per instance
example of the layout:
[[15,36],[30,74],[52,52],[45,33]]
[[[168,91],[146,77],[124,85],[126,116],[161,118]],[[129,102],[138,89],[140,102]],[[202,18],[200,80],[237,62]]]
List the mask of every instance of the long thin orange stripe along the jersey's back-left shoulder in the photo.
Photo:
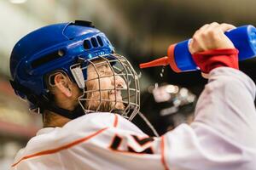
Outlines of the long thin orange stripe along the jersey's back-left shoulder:
[[24,156],[19,161],[17,161],[15,164],[13,164],[12,167],[15,167],[16,165],[18,165],[20,163],[20,161],[24,161],[24,160],[32,158],[32,157],[45,156],[45,155],[49,155],[49,154],[54,154],[54,153],[59,152],[61,150],[67,150],[68,148],[70,148],[70,147],[72,147],[72,146],[74,146],[76,144],[80,144],[80,143],[82,143],[82,142],[84,142],[84,141],[86,141],[88,139],[91,139],[91,138],[95,137],[97,134],[102,133],[107,128],[108,127],[102,128],[101,130],[97,131],[96,133],[92,133],[89,136],[86,136],[86,137],[84,137],[82,139],[75,140],[75,141],[73,141],[70,144],[66,144],[66,145],[63,145],[61,147],[58,147],[58,148],[55,148],[55,149],[52,149],[52,150],[44,150],[44,151],[40,151],[38,153],[29,155],[29,156]]

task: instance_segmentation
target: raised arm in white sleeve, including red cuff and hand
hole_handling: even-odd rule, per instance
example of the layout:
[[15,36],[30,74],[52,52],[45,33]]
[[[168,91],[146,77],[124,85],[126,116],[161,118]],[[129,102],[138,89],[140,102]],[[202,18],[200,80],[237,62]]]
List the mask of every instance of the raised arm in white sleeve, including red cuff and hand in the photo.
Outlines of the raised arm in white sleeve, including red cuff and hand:
[[195,109],[195,121],[162,137],[168,166],[176,169],[239,170],[256,167],[255,84],[238,70],[238,51],[212,23],[189,44],[208,83]]

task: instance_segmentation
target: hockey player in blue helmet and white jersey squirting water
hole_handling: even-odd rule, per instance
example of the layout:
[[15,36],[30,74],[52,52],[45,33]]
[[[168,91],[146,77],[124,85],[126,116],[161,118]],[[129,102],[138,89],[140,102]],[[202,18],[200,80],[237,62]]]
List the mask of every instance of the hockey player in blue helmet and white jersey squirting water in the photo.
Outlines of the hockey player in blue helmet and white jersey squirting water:
[[255,169],[255,85],[224,35],[232,28],[212,23],[195,32],[189,50],[209,81],[195,121],[161,137],[131,122],[140,106],[137,73],[90,22],[45,26],[21,38],[11,83],[42,113],[44,128],[12,169]]

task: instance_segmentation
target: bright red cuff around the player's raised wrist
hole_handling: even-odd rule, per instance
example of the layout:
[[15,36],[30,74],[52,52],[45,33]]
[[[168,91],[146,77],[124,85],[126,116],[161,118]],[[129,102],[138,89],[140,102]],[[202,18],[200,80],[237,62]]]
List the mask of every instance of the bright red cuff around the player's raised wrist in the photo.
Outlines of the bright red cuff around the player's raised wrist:
[[239,69],[238,50],[236,48],[211,49],[192,55],[195,64],[204,73],[209,73],[212,69],[227,66]]

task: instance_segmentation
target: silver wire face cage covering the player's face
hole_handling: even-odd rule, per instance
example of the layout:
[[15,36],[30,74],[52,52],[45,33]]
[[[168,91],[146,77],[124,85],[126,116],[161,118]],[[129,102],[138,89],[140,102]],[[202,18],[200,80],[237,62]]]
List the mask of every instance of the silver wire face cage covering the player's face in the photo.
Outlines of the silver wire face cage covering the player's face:
[[[140,88],[136,71],[119,54],[99,55],[70,67],[83,95],[79,104],[84,113],[119,113],[132,120],[140,108]],[[85,77],[85,78],[84,78]]]

